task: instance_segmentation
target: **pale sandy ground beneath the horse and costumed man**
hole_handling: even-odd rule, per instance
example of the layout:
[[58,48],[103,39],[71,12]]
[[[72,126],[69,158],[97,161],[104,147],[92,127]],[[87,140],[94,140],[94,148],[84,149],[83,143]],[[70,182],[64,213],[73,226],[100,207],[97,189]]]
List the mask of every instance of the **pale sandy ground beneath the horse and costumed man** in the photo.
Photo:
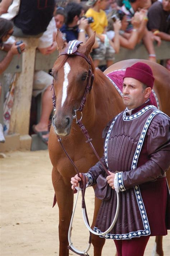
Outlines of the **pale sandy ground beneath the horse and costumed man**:
[[[57,256],[58,207],[52,209],[52,165],[48,151],[10,152],[0,159],[1,169],[1,256]],[[79,197],[81,200],[81,195]],[[89,233],[78,203],[72,241],[79,250],[86,248]],[[86,192],[86,205],[92,217],[94,195]],[[91,218],[89,218],[91,220]],[[148,242],[145,256],[151,256],[154,237]],[[164,237],[164,256],[170,255],[170,232]],[[93,246],[89,251],[93,255]],[[70,252],[70,255],[75,255]],[[113,241],[107,240],[102,256],[115,255]],[[64,256],[64,255],[63,255]]]

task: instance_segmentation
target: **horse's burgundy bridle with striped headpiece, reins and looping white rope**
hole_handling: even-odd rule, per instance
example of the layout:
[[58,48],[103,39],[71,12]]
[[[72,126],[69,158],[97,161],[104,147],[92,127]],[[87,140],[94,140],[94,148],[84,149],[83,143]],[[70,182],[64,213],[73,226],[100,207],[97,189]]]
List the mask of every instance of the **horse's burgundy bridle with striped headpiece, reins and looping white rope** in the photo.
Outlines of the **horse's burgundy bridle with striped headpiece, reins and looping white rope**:
[[[77,40],[74,40],[74,41],[70,41],[69,42],[69,45],[65,48],[65,51],[64,52],[61,52],[59,54],[58,57],[60,57],[61,55],[78,55],[78,56],[81,56],[82,58],[84,58],[88,64],[91,66],[91,61],[89,58],[87,58],[85,56],[85,54],[82,54],[80,52],[77,52],[77,47],[81,44],[82,42],[80,41],[77,41]],[[92,85],[93,85],[93,81],[94,81],[94,74],[92,73],[90,67],[89,67],[89,72],[88,72],[88,81],[87,81],[87,84],[86,84],[86,88],[85,88],[85,92],[84,92],[84,95],[82,97],[82,100],[81,100],[81,103],[80,103],[80,106],[77,110],[75,110],[75,115],[74,115],[74,118],[76,119],[76,123],[79,125],[80,129],[81,129],[81,132],[84,134],[84,136],[86,137],[86,143],[89,143],[91,148],[93,149],[96,157],[98,158],[98,160],[100,161],[103,169],[105,170],[105,172],[107,173],[107,175],[110,175],[108,170],[105,168],[104,164],[101,162],[100,160],[100,157],[99,155],[97,154],[95,148],[93,147],[92,143],[91,143],[91,140],[92,138],[90,138],[89,134],[88,134],[88,131],[86,130],[84,124],[82,124],[81,122],[81,119],[82,119],[82,110],[84,108],[84,105],[85,105],[85,102],[86,102],[86,96],[88,95],[88,93],[90,93],[91,91],[91,88],[92,88]],[[52,97],[52,101],[53,101],[53,107],[54,109],[56,110],[56,96],[55,96],[55,91],[54,91],[54,81],[52,83],[52,88],[53,88],[53,97]],[[77,115],[76,115],[76,112],[77,111],[80,111],[81,112],[81,118],[79,120],[77,120]],[[60,142],[60,145],[61,147],[63,148],[63,151],[65,152],[65,154],[67,155],[67,157],[69,158],[70,162],[72,163],[72,165],[74,166],[76,172],[77,172],[77,175],[80,177],[79,175],[79,170],[77,169],[76,165],[74,164],[74,162],[72,161],[72,159],[70,158],[70,156],[67,154],[65,148],[63,147],[63,144],[61,142],[61,138],[57,135],[57,138],[58,138],[58,142]],[[76,207],[76,203],[77,203],[77,199],[78,199],[78,195],[79,195],[79,188],[78,188],[78,191],[77,191],[77,197],[76,197],[76,202],[75,202],[75,205],[74,205],[74,209],[73,209],[73,212],[72,212],[72,217],[71,217],[71,221],[70,221],[70,227],[69,227],[69,232],[68,232],[68,241],[69,241],[69,246],[68,248],[75,252],[76,254],[78,255],[88,255],[88,251],[90,249],[90,246],[91,246],[91,233],[97,235],[97,236],[104,236],[105,234],[107,234],[115,225],[115,222],[117,221],[117,218],[118,218],[118,211],[119,211],[119,196],[118,196],[118,192],[117,192],[117,209],[116,209],[116,213],[115,213],[115,217],[114,217],[114,220],[111,224],[111,226],[103,233],[97,233],[95,232],[94,230],[92,230],[90,228],[90,225],[89,225],[89,220],[88,220],[88,216],[87,216],[87,212],[86,212],[86,206],[85,206],[85,189],[86,189],[86,175],[84,173],[82,173],[83,175],[83,179],[84,179],[84,185],[82,184],[82,182],[80,182],[80,187],[82,188],[81,190],[81,193],[82,193],[82,214],[83,214],[83,219],[84,219],[84,222],[85,222],[85,225],[86,227],[89,229],[90,231],[90,236],[89,236],[89,244],[88,244],[88,247],[86,248],[86,250],[84,251],[79,251],[77,250],[72,242],[71,242],[71,229],[72,229],[72,222],[73,222],[73,217],[74,217],[74,212],[75,212],[75,207]]]

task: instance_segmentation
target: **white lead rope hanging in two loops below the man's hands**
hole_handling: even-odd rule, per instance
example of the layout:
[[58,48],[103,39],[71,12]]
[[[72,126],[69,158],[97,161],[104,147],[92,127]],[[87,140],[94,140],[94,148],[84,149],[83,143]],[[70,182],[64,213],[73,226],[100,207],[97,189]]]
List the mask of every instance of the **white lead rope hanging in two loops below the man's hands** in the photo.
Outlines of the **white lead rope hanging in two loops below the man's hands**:
[[[71,221],[70,221],[70,227],[69,227],[69,232],[68,232],[68,241],[69,241],[69,246],[75,250],[77,253],[87,253],[90,249],[90,246],[91,246],[91,243],[88,244],[88,247],[86,248],[85,251],[79,251],[77,250],[72,242],[71,242],[71,229],[72,229],[72,223],[73,223],[73,218],[74,218],[74,214],[75,214],[75,209],[76,209],[76,205],[77,205],[77,200],[78,200],[78,196],[79,196],[79,187],[80,187],[80,184],[78,184],[78,189],[77,189],[77,196],[76,196],[76,201],[75,201],[75,204],[74,204],[74,207],[73,207],[73,211],[72,211],[72,216],[71,216]],[[92,234],[95,234],[96,236],[105,236],[105,234],[107,234],[115,225],[115,222],[117,221],[117,218],[118,218],[118,213],[119,213],[119,193],[116,191],[116,194],[117,194],[117,207],[116,207],[116,212],[115,212],[115,216],[114,216],[114,219],[113,219],[113,222],[111,224],[111,226],[103,233],[97,233],[95,232],[94,230],[92,230],[88,224],[88,221],[87,221],[87,218],[86,218],[86,214],[85,214],[85,208],[82,208],[82,215],[83,215],[83,219],[84,219],[84,223],[86,225],[86,227],[89,229],[89,231],[92,233]]]

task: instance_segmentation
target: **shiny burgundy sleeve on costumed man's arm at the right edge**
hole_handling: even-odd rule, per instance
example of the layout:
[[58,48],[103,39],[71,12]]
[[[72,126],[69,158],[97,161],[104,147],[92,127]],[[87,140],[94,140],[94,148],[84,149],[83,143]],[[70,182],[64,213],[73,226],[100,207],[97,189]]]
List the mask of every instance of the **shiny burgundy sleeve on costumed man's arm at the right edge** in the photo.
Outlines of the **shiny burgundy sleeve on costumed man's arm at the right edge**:
[[165,175],[169,168],[170,132],[169,119],[165,115],[156,115],[148,128],[147,153],[149,160],[145,164],[134,170],[121,173],[120,178],[124,189],[153,181],[159,176]]

